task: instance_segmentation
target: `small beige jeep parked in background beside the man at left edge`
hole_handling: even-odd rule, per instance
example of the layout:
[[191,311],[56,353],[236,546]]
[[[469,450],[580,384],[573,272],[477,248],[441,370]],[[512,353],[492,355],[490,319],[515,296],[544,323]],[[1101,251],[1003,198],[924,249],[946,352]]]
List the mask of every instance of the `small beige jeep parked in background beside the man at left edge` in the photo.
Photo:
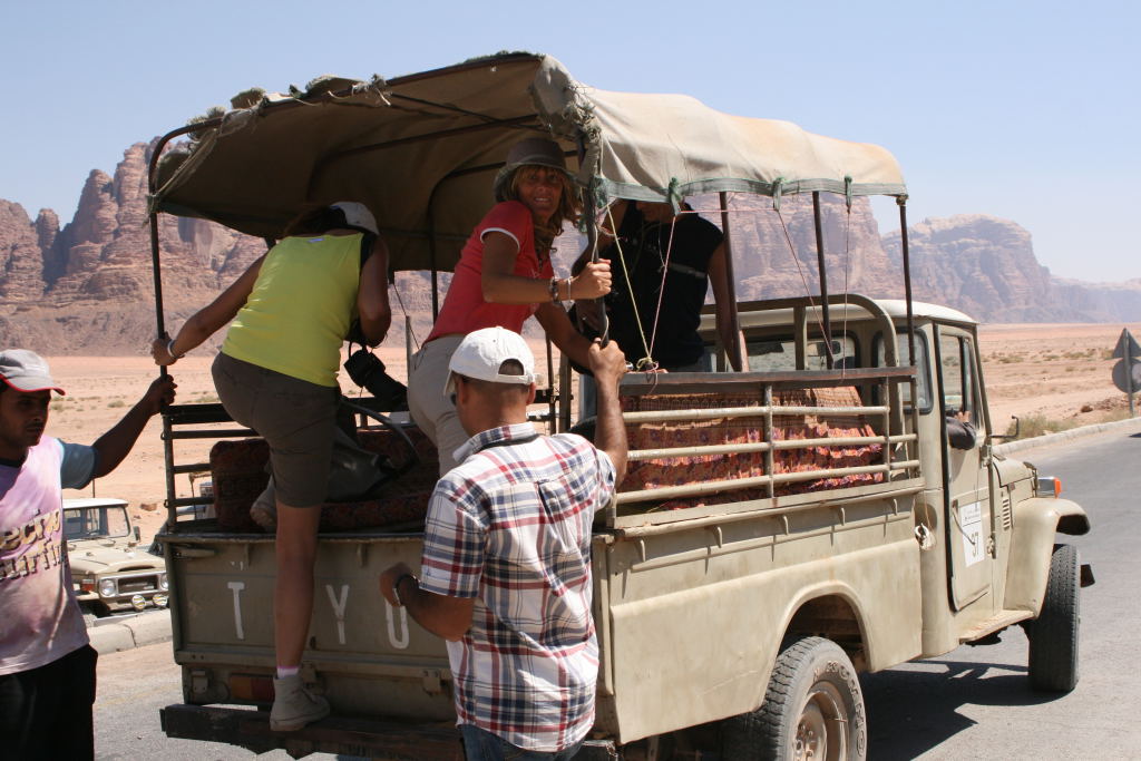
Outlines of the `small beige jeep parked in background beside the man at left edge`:
[[64,500],[64,536],[84,612],[102,616],[123,607],[167,607],[167,568],[139,544],[124,500]]

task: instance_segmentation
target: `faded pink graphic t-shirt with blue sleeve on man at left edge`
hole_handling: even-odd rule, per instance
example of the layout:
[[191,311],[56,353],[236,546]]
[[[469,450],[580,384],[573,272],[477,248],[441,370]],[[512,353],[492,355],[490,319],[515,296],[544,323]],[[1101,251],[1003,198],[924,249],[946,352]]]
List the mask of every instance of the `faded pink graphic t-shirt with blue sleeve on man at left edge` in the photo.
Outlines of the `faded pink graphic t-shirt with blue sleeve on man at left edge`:
[[44,436],[0,461],[0,674],[47,665],[88,642],[72,592],[60,488],[91,480],[94,450]]

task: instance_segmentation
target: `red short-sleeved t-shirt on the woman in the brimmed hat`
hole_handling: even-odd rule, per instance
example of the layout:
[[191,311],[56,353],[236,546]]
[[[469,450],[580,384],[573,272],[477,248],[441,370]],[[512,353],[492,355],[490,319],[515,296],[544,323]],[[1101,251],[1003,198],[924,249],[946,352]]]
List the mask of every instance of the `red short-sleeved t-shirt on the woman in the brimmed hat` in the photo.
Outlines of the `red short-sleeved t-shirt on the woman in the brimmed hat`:
[[448,333],[467,334],[496,325],[520,333],[523,323],[539,308],[539,303],[491,303],[484,300],[484,236],[491,232],[509,235],[519,244],[511,274],[533,280],[555,276],[550,259],[540,264],[535,253],[535,224],[531,210],[518,201],[496,203],[476,225],[463,245],[444,306],[428,335],[429,341]]

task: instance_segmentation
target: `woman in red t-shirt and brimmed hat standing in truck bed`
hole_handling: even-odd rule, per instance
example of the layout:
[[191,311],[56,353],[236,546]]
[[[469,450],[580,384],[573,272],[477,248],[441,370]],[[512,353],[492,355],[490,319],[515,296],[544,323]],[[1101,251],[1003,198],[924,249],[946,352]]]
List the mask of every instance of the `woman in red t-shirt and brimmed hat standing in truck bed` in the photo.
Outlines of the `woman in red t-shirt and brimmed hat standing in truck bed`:
[[463,337],[495,325],[521,333],[534,315],[564,354],[588,366],[590,341],[559,302],[610,291],[606,261],[586,265],[576,277],[555,277],[551,244],[580,208],[557,143],[527,138],[511,146],[494,191],[499,203],[464,244],[444,306],[408,372],[412,419],[436,443],[440,475],[459,464],[453,454],[468,440],[444,395],[447,363]]

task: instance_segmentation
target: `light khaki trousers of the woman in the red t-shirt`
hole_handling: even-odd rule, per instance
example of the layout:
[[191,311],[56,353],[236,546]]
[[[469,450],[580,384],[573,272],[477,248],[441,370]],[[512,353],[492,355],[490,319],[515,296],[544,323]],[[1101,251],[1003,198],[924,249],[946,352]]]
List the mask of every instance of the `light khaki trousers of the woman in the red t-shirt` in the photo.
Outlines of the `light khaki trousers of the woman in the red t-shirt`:
[[455,405],[444,395],[447,363],[462,341],[462,335],[443,335],[428,341],[412,355],[408,371],[408,412],[439,451],[440,476],[460,464],[453,454],[470,438],[460,424]]

